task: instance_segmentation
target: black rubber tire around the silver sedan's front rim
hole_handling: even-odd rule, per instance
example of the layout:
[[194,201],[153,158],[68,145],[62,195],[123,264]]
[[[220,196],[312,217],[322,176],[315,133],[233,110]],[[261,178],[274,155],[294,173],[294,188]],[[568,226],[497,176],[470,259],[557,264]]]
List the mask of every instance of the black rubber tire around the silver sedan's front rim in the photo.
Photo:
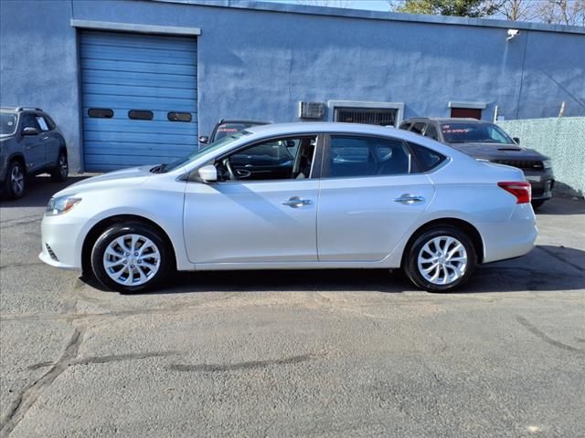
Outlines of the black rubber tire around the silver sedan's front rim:
[[[133,253],[130,256],[121,257],[119,259],[112,259],[114,261],[123,260],[126,263],[123,265],[118,264],[118,266],[110,267],[111,275],[117,275],[122,273],[121,281],[124,278],[129,278],[132,275],[131,283],[129,284],[121,284],[115,281],[112,276],[106,272],[106,266],[104,266],[104,254],[106,249],[109,245],[113,244],[114,241],[124,235],[139,235],[145,239],[150,240],[158,250],[159,254],[159,264],[158,270],[154,272],[154,275],[145,281],[142,284],[133,284],[133,279],[136,276],[139,276],[139,273],[142,272],[146,276],[149,275],[150,268],[147,267],[149,264],[154,264],[154,258],[146,258],[144,259],[144,265],[138,265],[141,262],[137,261],[139,257],[133,258],[133,255],[138,253]],[[129,241],[125,243],[130,243]],[[116,245],[116,244],[113,244]],[[117,246],[118,249],[121,249],[120,246]],[[140,251],[140,249],[139,249]],[[121,253],[122,254],[122,253]],[[129,253],[124,253],[129,254]],[[118,256],[118,255],[116,255]],[[147,256],[147,255],[146,255]],[[148,263],[146,263],[148,260]],[[163,236],[160,235],[160,232],[155,230],[153,227],[142,224],[140,222],[132,222],[127,224],[114,224],[103,231],[103,233],[98,237],[95,244],[93,245],[93,249],[91,250],[91,270],[93,271],[93,275],[100,281],[100,283],[109,289],[117,290],[118,292],[122,293],[134,293],[134,292],[144,292],[147,290],[152,290],[154,287],[160,285],[160,283],[165,279],[167,276],[169,269],[173,266],[173,252],[169,249],[169,246],[165,242]],[[115,271],[115,272],[114,272]],[[151,271],[152,272],[152,271]]]

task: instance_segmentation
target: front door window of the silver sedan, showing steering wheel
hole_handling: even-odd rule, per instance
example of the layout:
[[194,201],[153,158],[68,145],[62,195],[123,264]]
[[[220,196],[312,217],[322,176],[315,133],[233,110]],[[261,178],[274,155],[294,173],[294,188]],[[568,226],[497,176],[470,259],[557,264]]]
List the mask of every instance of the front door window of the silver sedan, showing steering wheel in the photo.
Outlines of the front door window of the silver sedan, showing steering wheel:
[[316,135],[262,141],[215,162],[218,179],[233,181],[291,180],[311,177]]

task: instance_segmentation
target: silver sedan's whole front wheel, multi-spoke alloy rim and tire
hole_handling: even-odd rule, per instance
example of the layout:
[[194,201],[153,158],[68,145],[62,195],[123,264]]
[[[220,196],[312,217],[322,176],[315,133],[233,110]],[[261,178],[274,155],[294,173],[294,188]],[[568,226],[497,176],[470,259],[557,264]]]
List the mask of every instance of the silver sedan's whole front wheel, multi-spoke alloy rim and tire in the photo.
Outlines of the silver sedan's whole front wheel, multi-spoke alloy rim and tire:
[[91,270],[105,287],[122,293],[152,289],[172,265],[172,252],[153,227],[141,223],[115,224],[96,240]]

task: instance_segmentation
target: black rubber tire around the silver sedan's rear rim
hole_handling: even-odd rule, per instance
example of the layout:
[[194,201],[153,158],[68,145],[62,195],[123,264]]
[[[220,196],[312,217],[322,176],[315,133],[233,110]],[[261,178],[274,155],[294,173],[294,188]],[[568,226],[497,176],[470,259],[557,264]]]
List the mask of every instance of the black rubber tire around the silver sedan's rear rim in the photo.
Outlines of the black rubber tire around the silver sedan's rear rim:
[[[459,276],[454,281],[449,282],[449,283],[444,284],[444,285],[443,284],[441,284],[441,285],[435,284],[434,282],[431,282],[429,279],[425,278],[423,276],[423,274],[420,272],[420,267],[419,267],[419,263],[418,263],[419,262],[419,255],[420,255],[422,248],[425,245],[427,245],[428,243],[430,243],[433,239],[435,239],[437,237],[441,237],[441,236],[452,237],[452,238],[458,240],[463,245],[463,248],[464,248],[465,253],[467,255],[467,261],[466,261],[466,264],[463,268],[463,275]],[[446,240],[444,242],[446,243]],[[434,247],[432,244],[430,244],[430,245],[431,245],[431,247]],[[454,245],[449,246],[448,250],[451,252],[452,248],[454,248]],[[424,253],[424,254],[427,254],[427,253]],[[453,262],[453,263],[460,263],[460,262]],[[431,262],[428,262],[428,265],[423,265],[423,266],[429,266],[429,265],[432,266],[433,264]],[[431,267],[431,266],[429,266],[429,267]],[[454,289],[456,287],[460,287],[461,285],[463,285],[463,283],[465,283],[469,279],[469,277],[473,274],[473,271],[475,270],[476,266],[477,266],[477,255],[475,253],[475,247],[473,246],[473,242],[469,238],[469,236],[466,235],[462,230],[460,230],[459,228],[455,228],[454,226],[439,225],[439,226],[433,227],[433,228],[425,231],[424,233],[422,233],[420,236],[418,236],[414,240],[412,245],[410,245],[409,248],[407,248],[407,253],[405,254],[405,259],[404,259],[402,269],[404,270],[404,273],[406,274],[406,276],[408,276],[410,278],[410,281],[412,281],[412,283],[415,284],[415,286],[420,287],[421,289],[427,290],[429,292],[447,292],[447,291],[451,291],[452,289]],[[462,267],[462,265],[459,265],[459,267]],[[455,271],[451,269],[451,272],[450,272],[450,269],[451,268],[447,268],[446,272],[448,274],[454,276]],[[439,272],[442,277],[445,277],[445,275],[443,274],[443,272],[445,272],[445,271],[443,269],[437,268],[436,271],[433,270],[431,272],[432,273]]]

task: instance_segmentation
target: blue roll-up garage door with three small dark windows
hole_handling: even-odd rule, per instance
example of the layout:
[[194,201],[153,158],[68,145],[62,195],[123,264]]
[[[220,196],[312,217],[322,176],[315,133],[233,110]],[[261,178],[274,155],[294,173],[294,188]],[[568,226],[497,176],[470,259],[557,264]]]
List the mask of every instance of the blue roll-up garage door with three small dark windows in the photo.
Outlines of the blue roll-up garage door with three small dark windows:
[[[81,34],[85,170],[171,162],[197,148],[197,40],[175,36]],[[111,119],[90,108],[111,109]],[[131,120],[150,110],[153,120]],[[170,121],[188,112],[191,121]]]

